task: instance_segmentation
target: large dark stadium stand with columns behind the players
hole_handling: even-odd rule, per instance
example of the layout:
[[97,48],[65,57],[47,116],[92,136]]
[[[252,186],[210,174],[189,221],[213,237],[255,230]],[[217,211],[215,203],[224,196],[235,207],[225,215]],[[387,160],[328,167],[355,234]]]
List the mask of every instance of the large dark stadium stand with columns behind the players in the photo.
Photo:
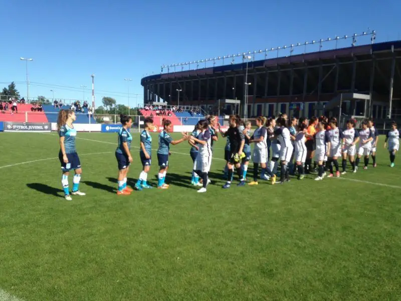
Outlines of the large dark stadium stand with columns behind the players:
[[[324,105],[340,93],[349,92],[370,94],[371,100],[367,106],[364,101],[343,102],[344,114],[401,117],[401,41],[243,59],[223,66],[214,62],[210,68],[193,63],[195,69],[189,65],[189,70],[181,67],[170,72],[168,68],[167,73],[142,78],[144,103],[199,105],[215,112],[220,103],[226,113],[236,111],[247,117],[280,112],[311,117],[321,114]],[[239,107],[222,101],[226,99],[240,100]]]

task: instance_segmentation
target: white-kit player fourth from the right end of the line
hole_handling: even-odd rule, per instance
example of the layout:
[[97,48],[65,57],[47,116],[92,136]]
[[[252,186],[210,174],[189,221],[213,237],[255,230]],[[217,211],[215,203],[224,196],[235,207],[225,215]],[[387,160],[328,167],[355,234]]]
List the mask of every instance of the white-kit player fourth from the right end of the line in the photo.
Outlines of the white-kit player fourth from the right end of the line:
[[341,175],[345,175],[347,168],[347,156],[349,163],[352,166],[352,172],[356,173],[355,169],[355,148],[356,144],[359,141],[359,132],[354,128],[355,120],[349,119],[347,121],[347,129],[342,131],[342,173]]

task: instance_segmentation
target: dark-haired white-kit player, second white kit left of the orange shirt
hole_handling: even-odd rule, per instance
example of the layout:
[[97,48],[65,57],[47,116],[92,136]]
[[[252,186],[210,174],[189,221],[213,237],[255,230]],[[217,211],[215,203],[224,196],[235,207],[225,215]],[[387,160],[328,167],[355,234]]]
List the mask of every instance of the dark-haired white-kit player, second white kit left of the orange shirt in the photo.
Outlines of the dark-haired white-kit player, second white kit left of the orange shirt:
[[277,119],[277,124],[280,127],[274,131],[274,134],[277,136],[277,139],[281,145],[281,149],[280,149],[280,165],[281,165],[280,184],[284,184],[284,182],[290,181],[287,165],[291,161],[291,156],[292,156],[292,152],[294,150],[294,146],[292,146],[290,130],[286,127],[287,120],[284,117],[280,117]]

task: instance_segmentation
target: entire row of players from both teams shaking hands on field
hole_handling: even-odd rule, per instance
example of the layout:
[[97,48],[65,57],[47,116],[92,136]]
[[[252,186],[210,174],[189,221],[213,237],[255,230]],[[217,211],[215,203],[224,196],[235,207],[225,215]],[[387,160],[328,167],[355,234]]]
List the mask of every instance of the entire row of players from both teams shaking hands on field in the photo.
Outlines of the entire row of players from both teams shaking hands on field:
[[[61,110],[58,115],[57,125],[60,135],[59,159],[62,170],[62,186],[66,200],[72,200],[71,195],[84,196],[79,191],[82,168],[76,149],[77,130],[73,126],[76,116],[72,110]],[[133,189],[127,186],[127,174],[133,159],[130,153],[132,135],[130,128],[132,119],[130,116],[121,115],[122,128],[118,133],[118,146],[115,152],[118,164],[118,190],[117,195],[130,195]],[[182,137],[173,140],[169,132],[172,129],[171,121],[163,120],[163,130],[158,136],[157,160],[159,166],[158,189],[168,189],[165,183],[168,170],[168,156],[170,155],[170,144],[175,145],[188,140],[190,144],[190,156],[193,160],[191,184],[201,187],[197,192],[207,191],[210,183],[209,171],[212,165],[213,142],[218,140],[219,132],[227,137],[225,147],[225,178],[228,180],[223,186],[224,189],[231,187],[234,171],[236,170],[239,183],[237,186],[246,185],[246,176],[249,162],[252,160],[253,181],[249,185],[258,185],[259,167],[261,168],[261,179],[271,180],[276,183],[276,173],[280,164],[280,181],[284,184],[290,181],[289,174],[298,171],[298,179],[302,180],[305,173],[312,170],[311,163],[314,159],[318,166],[317,181],[322,180],[326,175],[324,166],[330,170],[329,177],[339,177],[338,158],[342,157],[342,173],[346,173],[347,157],[356,172],[359,159],[364,156],[364,168],[367,168],[369,155],[372,155],[373,166],[375,166],[375,152],[378,137],[372,120],[362,122],[362,129],[354,129],[354,120],[348,120],[347,128],[341,130],[337,126],[337,120],[331,118],[327,122],[326,117],[319,119],[312,117],[309,126],[308,120],[292,118],[290,124],[286,114],[275,118],[258,117],[257,128],[251,135],[251,123],[243,122],[238,115],[229,118],[229,128],[222,131],[216,116],[208,116],[200,120],[192,133],[182,133]],[[152,188],[147,183],[147,175],[151,166],[152,137],[150,130],[153,128],[153,120],[144,120],[144,129],[140,134],[139,156],[142,163],[142,171],[135,189]],[[254,144],[251,152],[251,144]],[[357,148],[358,147],[358,148]],[[399,147],[399,132],[395,122],[391,124],[391,130],[387,133],[384,142],[390,153],[390,166],[394,166],[395,153]],[[357,151],[356,151],[357,150]],[[356,158],[355,158],[356,155]],[[271,157],[271,159],[270,159]],[[295,160],[295,164],[293,161]],[[296,168],[295,168],[296,166]],[[333,172],[333,167],[336,173]],[[71,170],[75,171],[73,176],[73,187],[70,193],[68,176]]]

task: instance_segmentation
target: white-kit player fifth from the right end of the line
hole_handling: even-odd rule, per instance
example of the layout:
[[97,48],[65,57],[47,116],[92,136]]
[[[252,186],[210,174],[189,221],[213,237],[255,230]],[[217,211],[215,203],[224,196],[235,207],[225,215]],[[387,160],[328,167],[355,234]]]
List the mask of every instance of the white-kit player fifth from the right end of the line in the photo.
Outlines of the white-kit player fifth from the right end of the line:
[[340,176],[340,170],[338,167],[338,157],[341,156],[341,140],[343,138],[342,130],[337,126],[337,120],[330,120],[330,129],[327,131],[328,145],[327,145],[327,158],[330,168],[330,177],[333,177],[333,165],[335,167],[336,177]]

